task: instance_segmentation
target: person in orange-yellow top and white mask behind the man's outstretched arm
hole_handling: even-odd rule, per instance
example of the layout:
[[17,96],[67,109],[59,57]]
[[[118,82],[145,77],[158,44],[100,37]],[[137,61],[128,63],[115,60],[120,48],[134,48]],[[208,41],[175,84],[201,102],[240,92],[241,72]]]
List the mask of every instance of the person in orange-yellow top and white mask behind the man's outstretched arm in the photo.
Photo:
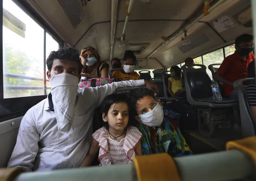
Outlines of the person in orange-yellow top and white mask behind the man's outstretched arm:
[[137,72],[134,71],[136,57],[133,55],[131,50],[125,52],[125,56],[123,57],[123,70],[115,71],[112,75],[112,78],[115,81],[129,81],[129,80],[139,80],[140,76]]

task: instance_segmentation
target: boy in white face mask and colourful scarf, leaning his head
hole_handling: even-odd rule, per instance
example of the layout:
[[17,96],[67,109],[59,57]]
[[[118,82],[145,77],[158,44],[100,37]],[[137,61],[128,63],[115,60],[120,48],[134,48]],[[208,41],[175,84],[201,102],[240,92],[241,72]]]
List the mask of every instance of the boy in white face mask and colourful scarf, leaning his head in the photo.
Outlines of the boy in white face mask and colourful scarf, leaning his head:
[[169,153],[171,156],[192,155],[177,124],[171,119],[171,111],[161,107],[149,89],[135,89],[130,94],[132,116],[139,122],[136,127],[142,133],[141,147],[144,155]]

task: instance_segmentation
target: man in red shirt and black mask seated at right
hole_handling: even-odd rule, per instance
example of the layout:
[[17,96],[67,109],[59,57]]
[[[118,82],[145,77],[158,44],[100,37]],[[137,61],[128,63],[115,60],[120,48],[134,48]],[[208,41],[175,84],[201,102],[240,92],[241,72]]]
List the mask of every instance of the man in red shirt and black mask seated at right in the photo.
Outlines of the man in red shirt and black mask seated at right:
[[253,36],[243,34],[236,38],[236,51],[224,59],[216,72],[215,79],[223,83],[225,96],[238,99],[233,83],[239,79],[247,78],[248,65],[255,59],[252,53],[254,46]]

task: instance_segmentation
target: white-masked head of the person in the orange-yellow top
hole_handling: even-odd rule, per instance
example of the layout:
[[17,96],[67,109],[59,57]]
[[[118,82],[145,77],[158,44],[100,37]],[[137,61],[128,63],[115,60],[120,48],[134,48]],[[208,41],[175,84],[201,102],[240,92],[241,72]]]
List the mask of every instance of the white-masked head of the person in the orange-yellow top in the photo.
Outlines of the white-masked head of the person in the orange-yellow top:
[[125,51],[125,56],[123,57],[123,70],[125,73],[132,73],[135,69],[136,57],[133,51]]

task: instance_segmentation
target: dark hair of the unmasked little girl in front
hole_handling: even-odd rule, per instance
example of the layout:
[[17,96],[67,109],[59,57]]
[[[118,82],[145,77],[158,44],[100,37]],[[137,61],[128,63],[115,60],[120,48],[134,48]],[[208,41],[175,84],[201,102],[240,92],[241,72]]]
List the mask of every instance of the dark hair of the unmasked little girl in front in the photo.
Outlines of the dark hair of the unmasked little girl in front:
[[[128,112],[130,113],[130,108],[129,108],[129,99],[127,98],[127,96],[125,94],[111,94],[109,96],[107,96],[102,104],[101,104],[101,113],[104,113],[104,118],[107,116],[107,114],[109,113],[109,109],[111,108],[111,106],[113,104],[117,104],[119,102],[125,102],[128,104]],[[103,121],[103,120],[102,120]],[[129,116],[129,121],[127,126],[129,125],[130,122],[130,116]],[[105,128],[109,128],[109,124],[108,122],[104,122],[103,121],[103,126]]]

